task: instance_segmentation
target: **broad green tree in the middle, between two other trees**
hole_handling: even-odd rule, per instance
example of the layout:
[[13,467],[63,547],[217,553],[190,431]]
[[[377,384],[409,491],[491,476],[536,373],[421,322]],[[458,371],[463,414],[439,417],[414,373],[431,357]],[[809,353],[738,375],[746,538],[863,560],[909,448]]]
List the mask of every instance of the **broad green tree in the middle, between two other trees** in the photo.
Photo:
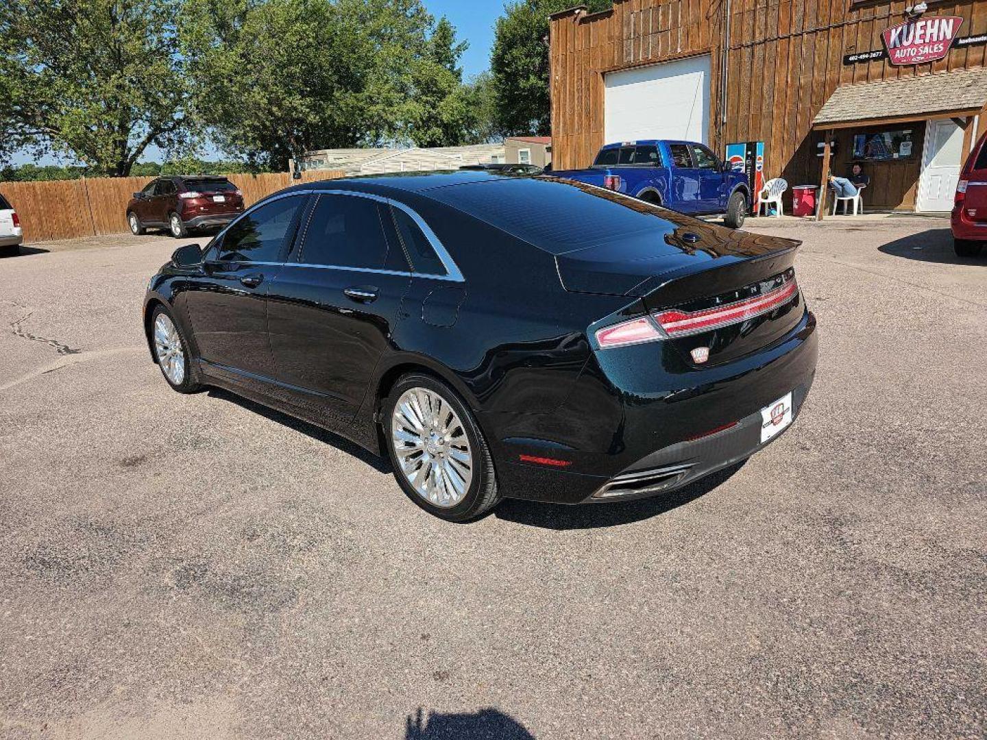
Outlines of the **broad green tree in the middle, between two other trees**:
[[306,151],[461,143],[465,49],[420,0],[188,0],[194,110],[229,152],[283,169]]

